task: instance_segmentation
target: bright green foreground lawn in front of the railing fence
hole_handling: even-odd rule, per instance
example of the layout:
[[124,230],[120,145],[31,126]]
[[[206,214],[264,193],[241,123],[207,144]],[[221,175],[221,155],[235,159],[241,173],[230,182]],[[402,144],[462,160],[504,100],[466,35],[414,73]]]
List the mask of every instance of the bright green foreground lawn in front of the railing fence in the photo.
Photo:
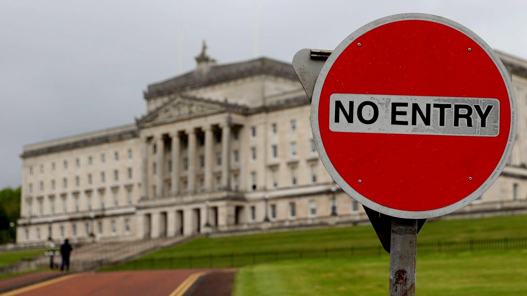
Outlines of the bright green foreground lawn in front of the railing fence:
[[[418,253],[418,251],[417,251]],[[388,293],[388,255],[284,261],[238,270],[233,296]],[[527,250],[418,255],[417,295],[526,295]]]

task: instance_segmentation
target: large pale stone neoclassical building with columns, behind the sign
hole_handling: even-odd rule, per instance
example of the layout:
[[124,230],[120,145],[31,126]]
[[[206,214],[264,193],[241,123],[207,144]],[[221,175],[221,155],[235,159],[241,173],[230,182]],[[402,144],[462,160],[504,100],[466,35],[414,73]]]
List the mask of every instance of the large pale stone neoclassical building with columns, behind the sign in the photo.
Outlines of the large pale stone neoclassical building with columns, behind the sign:
[[[136,240],[365,219],[318,157],[290,64],[258,58],[148,86],[134,124],[25,145],[17,242]],[[518,99],[509,165],[460,210],[527,208],[527,62],[499,54]]]

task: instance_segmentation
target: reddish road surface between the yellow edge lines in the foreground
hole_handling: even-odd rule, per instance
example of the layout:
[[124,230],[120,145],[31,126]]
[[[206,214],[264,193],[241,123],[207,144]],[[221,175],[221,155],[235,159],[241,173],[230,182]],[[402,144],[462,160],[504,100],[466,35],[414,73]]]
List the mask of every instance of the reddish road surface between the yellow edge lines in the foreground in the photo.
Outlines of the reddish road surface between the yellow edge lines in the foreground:
[[204,274],[206,271],[188,269],[73,273],[0,296],[181,296]]

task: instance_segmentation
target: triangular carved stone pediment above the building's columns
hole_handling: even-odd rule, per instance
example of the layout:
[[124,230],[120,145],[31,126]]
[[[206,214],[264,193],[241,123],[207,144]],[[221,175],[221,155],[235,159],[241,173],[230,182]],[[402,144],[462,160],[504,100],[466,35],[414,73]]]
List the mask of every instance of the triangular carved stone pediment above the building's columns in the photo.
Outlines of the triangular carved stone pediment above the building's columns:
[[225,111],[243,112],[245,106],[191,96],[177,96],[137,121],[140,127],[180,121]]

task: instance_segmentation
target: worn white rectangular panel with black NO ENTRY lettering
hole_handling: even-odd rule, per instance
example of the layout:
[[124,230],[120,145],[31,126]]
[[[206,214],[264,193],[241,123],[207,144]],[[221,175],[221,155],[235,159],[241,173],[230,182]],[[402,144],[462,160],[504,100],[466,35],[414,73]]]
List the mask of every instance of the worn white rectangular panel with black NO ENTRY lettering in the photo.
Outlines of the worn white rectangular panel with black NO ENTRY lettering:
[[497,136],[500,133],[500,101],[475,97],[336,93],[331,94],[329,100],[329,130]]

